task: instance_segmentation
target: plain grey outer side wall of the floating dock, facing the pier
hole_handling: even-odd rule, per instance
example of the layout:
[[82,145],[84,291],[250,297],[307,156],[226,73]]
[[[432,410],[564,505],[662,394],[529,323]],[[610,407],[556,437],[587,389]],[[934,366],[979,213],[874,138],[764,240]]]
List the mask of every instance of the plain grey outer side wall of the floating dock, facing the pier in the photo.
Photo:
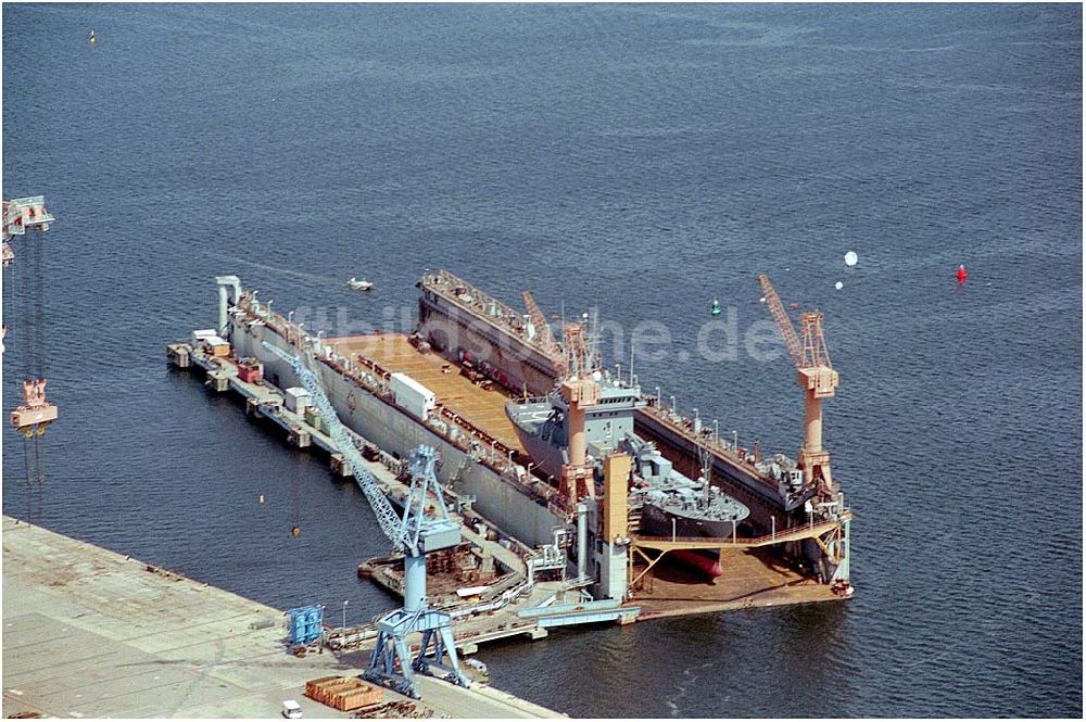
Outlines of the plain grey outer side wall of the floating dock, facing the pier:
[[[290,344],[267,327],[257,325],[249,328],[243,322],[231,321],[230,341],[238,356],[255,356],[264,362],[264,378],[279,389],[298,385],[299,380],[293,369],[263,347],[262,342],[265,340],[288,353],[294,353]],[[377,398],[334,369],[324,364],[318,366],[325,392],[348,427],[386,452],[400,457],[406,456],[408,451],[419,444],[433,446],[442,459],[438,478],[442,483],[449,483],[450,477],[467,456],[462,449],[421,426],[418,419],[413,419]],[[351,403],[348,402],[349,397]],[[457,476],[454,490],[460,495],[473,495],[473,508],[479,514],[531,546],[550,543],[554,527],[564,523],[536,497],[525,494],[482,464],[469,461],[465,465]]]

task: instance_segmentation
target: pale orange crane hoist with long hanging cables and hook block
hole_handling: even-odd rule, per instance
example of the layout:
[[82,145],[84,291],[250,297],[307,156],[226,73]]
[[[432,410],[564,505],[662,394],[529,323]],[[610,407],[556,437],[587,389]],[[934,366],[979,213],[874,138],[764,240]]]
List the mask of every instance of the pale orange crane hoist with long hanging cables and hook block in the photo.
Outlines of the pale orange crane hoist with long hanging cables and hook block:
[[[49,230],[53,216],[45,207],[41,195],[3,201],[3,266],[15,258],[9,241],[14,236],[25,236],[26,229]],[[23,366],[22,403],[11,413],[11,423],[23,435],[23,460],[26,467],[28,502],[33,492],[40,494],[46,481],[46,448],[41,435],[56,420],[58,408],[46,400],[46,284],[42,275],[42,243],[27,240],[23,243],[25,263],[21,263],[18,288],[12,293],[12,315],[18,319]],[[4,326],[3,334],[8,328]],[[2,349],[2,346],[0,346]],[[39,497],[40,502],[40,497]],[[40,508],[39,508],[40,512]]]

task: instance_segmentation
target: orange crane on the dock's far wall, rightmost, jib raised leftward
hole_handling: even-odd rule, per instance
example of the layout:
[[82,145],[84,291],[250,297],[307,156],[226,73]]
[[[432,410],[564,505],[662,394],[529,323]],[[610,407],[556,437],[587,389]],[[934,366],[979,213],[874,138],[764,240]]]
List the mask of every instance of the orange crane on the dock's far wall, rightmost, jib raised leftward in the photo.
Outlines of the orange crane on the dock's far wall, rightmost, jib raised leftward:
[[799,316],[803,341],[799,340],[784,304],[765,275],[758,277],[766,305],[769,306],[776,327],[788,347],[788,355],[796,367],[796,381],[806,394],[804,408],[804,445],[799,449],[797,466],[804,470],[806,485],[821,494],[836,494],[830,474],[830,452],[822,448],[822,400],[831,398],[837,388],[838,376],[830,363],[830,350],[822,333],[822,314],[808,311]]

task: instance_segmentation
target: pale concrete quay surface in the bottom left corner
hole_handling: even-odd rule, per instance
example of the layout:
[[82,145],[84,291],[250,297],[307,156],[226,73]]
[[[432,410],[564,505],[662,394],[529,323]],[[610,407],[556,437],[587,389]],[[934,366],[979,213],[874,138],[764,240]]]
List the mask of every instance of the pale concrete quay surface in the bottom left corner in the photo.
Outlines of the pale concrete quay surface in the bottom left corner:
[[[3,717],[346,718],[305,681],[355,675],[358,656],[288,654],[282,612],[3,517]],[[561,717],[504,692],[422,677],[421,713]]]

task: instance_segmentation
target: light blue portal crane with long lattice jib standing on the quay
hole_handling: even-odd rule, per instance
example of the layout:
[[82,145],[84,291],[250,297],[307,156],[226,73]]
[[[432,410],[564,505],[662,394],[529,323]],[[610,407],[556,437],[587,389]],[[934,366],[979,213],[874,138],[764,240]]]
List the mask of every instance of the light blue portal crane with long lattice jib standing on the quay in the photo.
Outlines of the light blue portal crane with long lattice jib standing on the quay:
[[[408,455],[411,490],[404,501],[403,516],[397,516],[389,499],[381,493],[374,474],[366,468],[362,454],[339,420],[317,375],[311,369],[314,363],[312,351],[305,349],[303,362],[266,341],[264,347],[294,369],[328,427],[328,435],[351,465],[355,481],[369,501],[381,531],[392,542],[395,550],[404,555],[404,606],[386,615],[378,622],[377,646],[363,677],[388,685],[415,699],[419,699],[420,694],[414,672],[432,674],[438,669],[444,672],[443,676],[447,681],[463,687],[469,686],[456,658],[452,618],[430,607],[426,599],[426,555],[460,543],[460,524],[449,518],[444,496],[434,473],[437,451],[432,446],[421,445]],[[433,517],[427,516],[428,507],[434,509]],[[421,632],[422,641],[418,655],[412,659],[407,637],[414,632]],[[449,663],[444,661],[446,655]]]

